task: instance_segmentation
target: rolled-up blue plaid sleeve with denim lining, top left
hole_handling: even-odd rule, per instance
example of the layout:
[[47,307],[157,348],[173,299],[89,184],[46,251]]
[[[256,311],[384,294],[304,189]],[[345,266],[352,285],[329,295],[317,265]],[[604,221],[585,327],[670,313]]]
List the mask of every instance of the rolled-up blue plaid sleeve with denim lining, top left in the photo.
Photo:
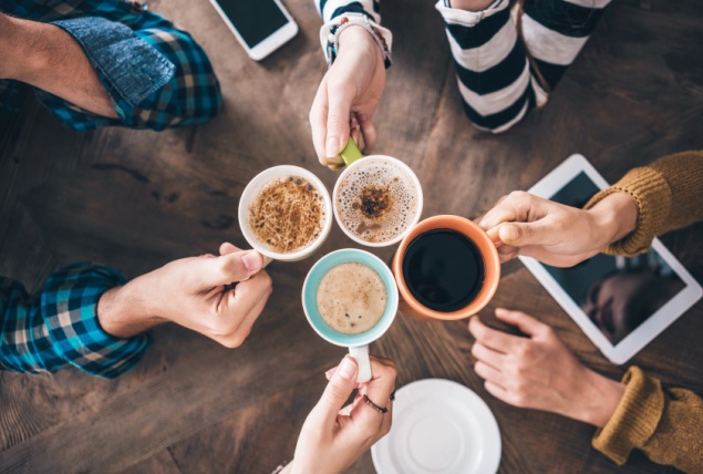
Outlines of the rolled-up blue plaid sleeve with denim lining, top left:
[[[39,100],[79,131],[121,125],[162,131],[204,123],[221,104],[213,66],[185,31],[122,0],[10,0],[3,11],[51,22],[83,48],[118,118],[103,117],[45,91]],[[17,83],[0,81],[0,103],[17,107]]]

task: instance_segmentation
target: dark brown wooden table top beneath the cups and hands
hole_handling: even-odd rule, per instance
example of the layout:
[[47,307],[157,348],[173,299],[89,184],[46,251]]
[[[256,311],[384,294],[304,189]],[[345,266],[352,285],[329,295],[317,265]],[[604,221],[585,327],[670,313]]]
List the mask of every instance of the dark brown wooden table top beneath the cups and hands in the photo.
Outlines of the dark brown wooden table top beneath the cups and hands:
[[[385,0],[395,64],[375,123],[378,151],[405,161],[425,193],[424,217],[475,217],[525,189],[571,153],[609,181],[676,151],[703,147],[703,7],[695,0],[617,2],[550,97],[513,131],[492,135],[464,117],[448,47],[432,1]],[[0,115],[0,275],[35,290],[59,266],[95,260],[130,277],[166,261],[242,245],[238,196],[260,171],[292,163],[331,189],[307,120],[325,71],[312,0],[288,0],[299,35],[261,63],[250,61],[207,0],[152,7],[189,30],[208,51],[225,107],[215,121],[161,134],[74,133],[28,96]],[[699,279],[697,225],[664,238]],[[236,350],[167,324],[118,380],[74,370],[0,373],[2,472],[268,473],[290,460],[300,426],[344,351],[308,326],[300,290],[328,251],[354,247],[334,228],[324,247],[297,264],[273,264],[275,292]],[[376,254],[390,258],[393,249]],[[503,268],[490,310],[525,310],[556,328],[589,367],[613,367],[519,264]],[[495,322],[495,321],[494,321]],[[657,338],[632,363],[664,382],[703,392],[703,305]],[[473,372],[466,323],[396,319],[372,351],[394,359],[397,385],[426,378],[476,391],[500,425],[505,473],[672,472],[634,454],[618,468],[590,447],[593,427],[520,410],[492,398]],[[373,472],[370,455],[351,470]]]

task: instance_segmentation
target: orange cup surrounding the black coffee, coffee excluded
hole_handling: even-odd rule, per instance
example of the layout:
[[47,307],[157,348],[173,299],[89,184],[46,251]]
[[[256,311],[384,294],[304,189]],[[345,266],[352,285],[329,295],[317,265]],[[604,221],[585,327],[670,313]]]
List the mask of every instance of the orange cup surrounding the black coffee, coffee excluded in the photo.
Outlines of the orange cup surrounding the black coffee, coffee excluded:
[[[410,291],[403,275],[403,258],[410,244],[421,234],[440,229],[453,230],[466,237],[476,246],[484,260],[485,277],[478,293],[464,308],[451,312],[437,311],[421,303]],[[498,289],[498,281],[500,280],[500,259],[498,258],[496,246],[480,227],[459,216],[441,215],[417,223],[403,238],[397,250],[395,250],[391,267],[401,297],[399,311],[421,320],[456,320],[476,315],[488,305],[488,301]]]

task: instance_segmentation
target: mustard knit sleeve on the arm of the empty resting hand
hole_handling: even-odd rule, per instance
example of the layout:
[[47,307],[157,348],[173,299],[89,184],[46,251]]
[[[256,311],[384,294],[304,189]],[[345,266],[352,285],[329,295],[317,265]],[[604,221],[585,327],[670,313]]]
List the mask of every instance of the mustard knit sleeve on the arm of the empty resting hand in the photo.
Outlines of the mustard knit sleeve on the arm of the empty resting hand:
[[624,395],[606,426],[596,432],[593,447],[618,465],[634,449],[658,464],[703,473],[703,400],[631,367],[622,382]]

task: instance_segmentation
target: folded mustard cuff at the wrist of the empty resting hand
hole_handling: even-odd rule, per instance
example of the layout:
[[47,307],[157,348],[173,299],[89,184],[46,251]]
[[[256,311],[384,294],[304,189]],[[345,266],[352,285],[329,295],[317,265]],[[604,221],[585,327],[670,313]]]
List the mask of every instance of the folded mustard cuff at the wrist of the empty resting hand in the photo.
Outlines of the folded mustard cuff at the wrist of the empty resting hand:
[[627,384],[622,400],[606,426],[598,430],[592,446],[622,465],[633,449],[652,436],[664,411],[661,382],[631,367],[622,378]]

